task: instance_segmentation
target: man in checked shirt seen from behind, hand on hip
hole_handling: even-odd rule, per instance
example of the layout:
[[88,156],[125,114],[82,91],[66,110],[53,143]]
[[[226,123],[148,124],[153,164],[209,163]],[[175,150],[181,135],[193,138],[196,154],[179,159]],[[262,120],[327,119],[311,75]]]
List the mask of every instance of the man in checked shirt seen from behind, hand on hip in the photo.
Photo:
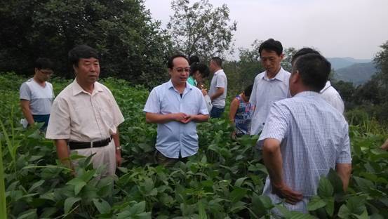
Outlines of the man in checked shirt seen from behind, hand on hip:
[[349,183],[352,158],[347,121],[319,94],[330,67],[319,54],[295,60],[289,79],[293,98],[274,102],[258,141],[269,173],[263,194],[273,203],[285,199],[290,211],[307,213],[319,179],[330,168],[337,171],[344,190]]

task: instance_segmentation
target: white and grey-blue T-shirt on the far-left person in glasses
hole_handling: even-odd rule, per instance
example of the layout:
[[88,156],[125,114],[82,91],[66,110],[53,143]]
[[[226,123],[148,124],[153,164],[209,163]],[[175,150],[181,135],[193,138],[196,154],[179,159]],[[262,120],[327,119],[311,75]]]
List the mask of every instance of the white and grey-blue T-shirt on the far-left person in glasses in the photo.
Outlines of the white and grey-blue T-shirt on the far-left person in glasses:
[[53,105],[53,85],[46,81],[46,86],[39,85],[34,79],[29,79],[20,86],[20,100],[29,100],[29,110],[33,115],[46,115]]

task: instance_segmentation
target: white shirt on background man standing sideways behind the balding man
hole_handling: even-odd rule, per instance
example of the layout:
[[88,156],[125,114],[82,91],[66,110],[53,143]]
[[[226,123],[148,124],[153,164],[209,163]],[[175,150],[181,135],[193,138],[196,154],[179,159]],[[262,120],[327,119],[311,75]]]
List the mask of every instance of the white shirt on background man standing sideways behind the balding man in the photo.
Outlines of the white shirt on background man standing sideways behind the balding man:
[[224,108],[225,99],[227,98],[227,75],[223,69],[218,70],[214,73],[213,79],[211,79],[209,96],[211,97],[217,91],[217,88],[225,88],[224,93],[218,98],[215,98],[211,104],[213,107]]

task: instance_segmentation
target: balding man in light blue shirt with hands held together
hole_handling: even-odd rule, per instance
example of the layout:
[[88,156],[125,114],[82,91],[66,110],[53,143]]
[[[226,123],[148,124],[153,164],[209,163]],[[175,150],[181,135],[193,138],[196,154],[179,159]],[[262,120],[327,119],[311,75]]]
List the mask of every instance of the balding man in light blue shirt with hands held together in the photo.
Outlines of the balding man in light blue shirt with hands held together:
[[207,121],[208,110],[199,88],[187,83],[189,62],[184,55],[168,60],[170,80],[156,86],[145,104],[145,119],[158,124],[156,160],[173,166],[182,158],[196,154],[196,122]]

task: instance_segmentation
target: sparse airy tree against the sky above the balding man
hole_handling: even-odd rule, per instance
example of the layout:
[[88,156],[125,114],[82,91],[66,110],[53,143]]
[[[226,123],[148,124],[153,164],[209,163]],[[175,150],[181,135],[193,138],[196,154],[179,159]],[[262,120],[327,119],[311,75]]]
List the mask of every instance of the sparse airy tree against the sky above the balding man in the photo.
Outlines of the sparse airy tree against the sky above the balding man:
[[175,50],[188,56],[198,55],[203,60],[229,50],[236,22],[229,25],[229,8],[223,4],[213,8],[208,0],[200,0],[192,6],[189,0],[171,2],[175,11],[170,16],[167,29]]

